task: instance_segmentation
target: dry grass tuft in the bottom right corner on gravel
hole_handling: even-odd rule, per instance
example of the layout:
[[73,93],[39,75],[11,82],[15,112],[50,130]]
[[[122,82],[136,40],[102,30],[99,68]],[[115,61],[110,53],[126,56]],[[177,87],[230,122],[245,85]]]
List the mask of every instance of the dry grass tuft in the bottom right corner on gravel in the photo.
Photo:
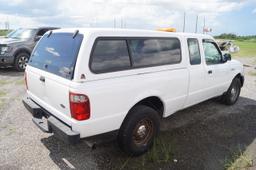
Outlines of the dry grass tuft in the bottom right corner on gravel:
[[224,168],[225,170],[240,170],[249,169],[253,166],[254,164],[251,156],[239,150],[232,154],[230,160],[225,161]]

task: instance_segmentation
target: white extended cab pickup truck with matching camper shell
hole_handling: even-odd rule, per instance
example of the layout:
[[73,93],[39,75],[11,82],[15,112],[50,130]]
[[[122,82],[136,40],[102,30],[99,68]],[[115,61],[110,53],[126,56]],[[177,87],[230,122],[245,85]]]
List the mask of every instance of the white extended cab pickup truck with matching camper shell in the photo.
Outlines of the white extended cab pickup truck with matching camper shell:
[[209,35],[60,29],[39,41],[25,80],[23,103],[44,132],[77,143],[118,130],[121,149],[140,155],[161,118],[217,96],[234,104],[244,76]]

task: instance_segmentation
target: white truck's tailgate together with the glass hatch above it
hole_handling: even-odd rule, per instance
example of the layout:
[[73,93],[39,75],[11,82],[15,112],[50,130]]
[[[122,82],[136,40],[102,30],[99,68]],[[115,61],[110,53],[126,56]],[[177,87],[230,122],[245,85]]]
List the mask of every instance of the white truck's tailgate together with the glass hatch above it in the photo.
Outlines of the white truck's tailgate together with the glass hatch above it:
[[69,125],[69,86],[82,39],[82,35],[73,37],[72,33],[44,35],[26,68],[28,95]]

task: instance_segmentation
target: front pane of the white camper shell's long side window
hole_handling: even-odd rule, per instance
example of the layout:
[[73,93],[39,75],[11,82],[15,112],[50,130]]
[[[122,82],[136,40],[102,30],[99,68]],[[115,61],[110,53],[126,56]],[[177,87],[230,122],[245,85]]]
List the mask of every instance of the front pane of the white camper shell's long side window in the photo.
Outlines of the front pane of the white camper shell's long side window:
[[177,64],[181,61],[180,42],[176,38],[131,39],[128,42],[134,67]]

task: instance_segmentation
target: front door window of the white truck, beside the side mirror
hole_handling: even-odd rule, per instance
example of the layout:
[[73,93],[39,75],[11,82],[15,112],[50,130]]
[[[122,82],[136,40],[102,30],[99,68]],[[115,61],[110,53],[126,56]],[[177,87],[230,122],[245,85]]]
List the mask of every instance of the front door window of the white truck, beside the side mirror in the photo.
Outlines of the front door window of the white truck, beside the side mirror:
[[203,47],[207,65],[222,63],[222,55],[216,43],[204,40]]

